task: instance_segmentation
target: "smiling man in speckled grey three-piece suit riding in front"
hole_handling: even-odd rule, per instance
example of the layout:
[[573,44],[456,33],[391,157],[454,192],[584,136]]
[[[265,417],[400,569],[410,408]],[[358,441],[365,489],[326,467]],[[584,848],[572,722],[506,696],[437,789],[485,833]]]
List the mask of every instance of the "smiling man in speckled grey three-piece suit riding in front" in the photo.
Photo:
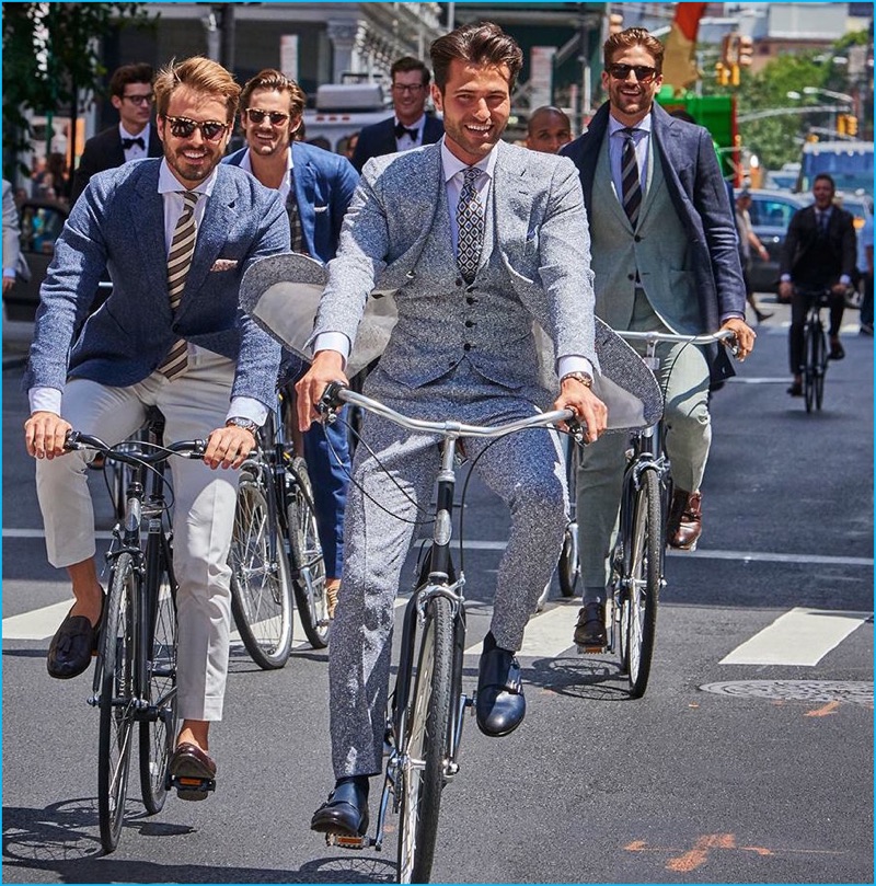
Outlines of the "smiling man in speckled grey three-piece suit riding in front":
[[[397,290],[399,321],[368,379],[369,394],[423,418],[474,424],[520,418],[553,401],[577,412],[590,440],[604,429],[606,407],[589,387],[599,365],[575,168],[499,141],[521,60],[517,44],[493,24],[465,25],[433,44],[433,97],[446,136],[365,166],[328,265],[313,365],[298,384],[302,428],[316,417],[326,383],[344,380],[345,356],[379,280],[380,289]],[[472,212],[482,220],[474,238]],[[533,319],[553,340],[558,396],[537,381]],[[413,533],[412,522],[390,515],[410,520],[412,502],[427,507],[439,468],[434,438],[371,415],[364,429],[368,446],[357,450],[350,484],[344,594],[328,663],[337,783],[311,822],[348,836],[367,829],[368,776],[382,766],[393,600]],[[523,718],[515,651],[556,565],[567,493],[554,435],[518,435],[485,452],[480,440],[465,447],[511,509],[476,705],[481,730],[499,736]]]

